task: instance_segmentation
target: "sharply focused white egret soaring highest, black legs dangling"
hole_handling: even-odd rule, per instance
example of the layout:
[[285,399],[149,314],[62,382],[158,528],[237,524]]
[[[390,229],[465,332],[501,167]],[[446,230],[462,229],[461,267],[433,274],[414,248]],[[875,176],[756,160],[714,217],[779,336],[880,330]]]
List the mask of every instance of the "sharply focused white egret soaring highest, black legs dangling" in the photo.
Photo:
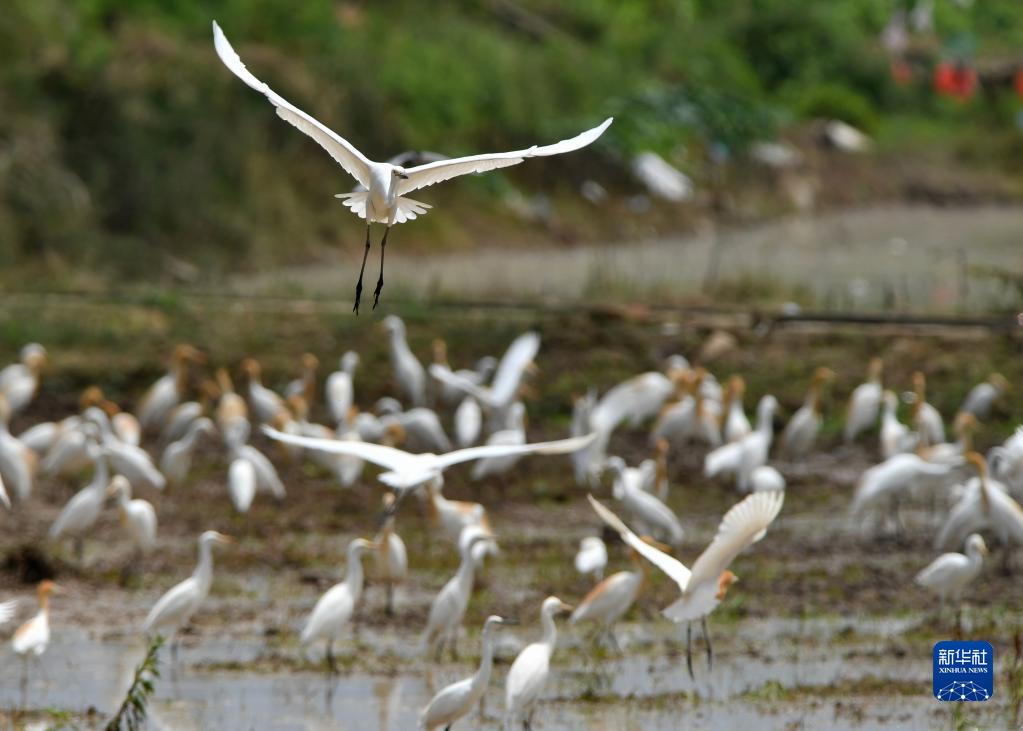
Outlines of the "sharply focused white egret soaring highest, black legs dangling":
[[341,198],[344,204],[352,210],[352,213],[366,220],[366,247],[362,254],[362,268],[359,270],[359,281],[355,285],[355,307],[353,310],[356,314],[359,312],[359,300],[362,296],[362,274],[365,272],[366,257],[369,255],[369,225],[373,222],[387,225],[387,230],[384,232],[384,238],[381,241],[381,273],[380,278],[376,280],[376,289],[373,291],[373,308],[375,308],[377,302],[380,302],[381,290],[384,288],[384,253],[387,247],[387,236],[391,231],[391,227],[396,223],[405,223],[406,221],[415,219],[417,216],[422,216],[431,208],[418,200],[405,197],[406,193],[458,177],[459,175],[507,168],[522,163],[527,157],[544,157],[577,150],[596,140],[608,129],[608,126],[611,125],[611,119],[609,118],[599,126],[587,130],[576,137],[542,147],[533,145],[528,149],[513,152],[493,152],[475,154],[468,157],[452,157],[450,159],[440,159],[425,165],[417,165],[413,168],[403,168],[391,165],[390,163],[373,163],[357,150],[348,140],[332,132],[297,106],[293,106],[269,86],[253,76],[246,68],[238,54],[234,52],[234,49],[227,41],[224,32],[220,30],[220,26],[217,25],[216,20],[213,22],[213,43],[217,49],[217,55],[220,56],[220,60],[224,62],[224,65],[234,76],[269,99],[277,107],[278,117],[316,140],[345,169],[345,172],[366,188],[354,193],[340,193],[336,196]]

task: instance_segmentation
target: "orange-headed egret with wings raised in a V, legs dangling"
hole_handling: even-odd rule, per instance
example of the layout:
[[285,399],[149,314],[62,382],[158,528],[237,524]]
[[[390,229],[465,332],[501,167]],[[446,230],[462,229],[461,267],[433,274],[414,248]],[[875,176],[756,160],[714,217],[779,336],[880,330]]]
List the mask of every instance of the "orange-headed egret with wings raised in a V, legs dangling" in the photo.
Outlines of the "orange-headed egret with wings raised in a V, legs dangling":
[[714,651],[707,632],[707,615],[724,599],[728,587],[738,581],[728,565],[747,547],[767,534],[785,501],[784,492],[765,492],[749,495],[729,508],[721,518],[717,535],[704,549],[691,572],[681,561],[658,550],[632,533],[622,520],[607,507],[587,495],[596,514],[618,532],[622,540],[639,555],[668,575],[677,585],[682,595],[662,613],[672,622],[686,623],[685,666],[693,677],[693,622],[700,620],[704,640],[707,643],[708,668],[713,664]]

